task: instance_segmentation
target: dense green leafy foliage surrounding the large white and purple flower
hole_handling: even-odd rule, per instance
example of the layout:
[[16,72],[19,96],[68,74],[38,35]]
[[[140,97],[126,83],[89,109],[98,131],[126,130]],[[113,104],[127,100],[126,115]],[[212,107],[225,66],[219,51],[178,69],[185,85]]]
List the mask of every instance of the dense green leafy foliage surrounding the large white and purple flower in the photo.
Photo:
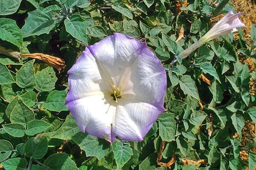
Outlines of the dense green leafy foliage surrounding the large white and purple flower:
[[[17,60],[0,51],[0,167],[166,170],[157,164],[162,152],[161,162],[175,154],[175,170],[253,170],[256,139],[245,139],[243,128],[256,123],[256,27],[249,27],[250,39],[240,30],[182,60],[180,52],[209,31],[212,17],[233,6],[230,0],[187,0],[179,11],[183,2],[2,0],[0,50],[50,54],[67,66],[58,73],[41,60]],[[143,38],[168,75],[166,111],[140,142],[110,144],[82,133],[65,106],[67,70],[84,50],[82,43],[92,45],[113,32]],[[182,159],[207,163],[185,165]]]

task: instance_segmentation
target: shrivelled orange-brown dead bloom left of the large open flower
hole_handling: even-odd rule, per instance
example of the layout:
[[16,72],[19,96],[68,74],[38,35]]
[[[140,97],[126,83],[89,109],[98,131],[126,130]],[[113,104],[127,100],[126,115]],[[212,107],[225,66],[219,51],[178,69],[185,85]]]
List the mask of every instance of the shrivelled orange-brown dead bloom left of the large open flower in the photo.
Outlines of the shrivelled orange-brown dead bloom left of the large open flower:
[[54,57],[51,55],[47,55],[47,54],[42,54],[42,53],[20,54],[20,57],[40,59],[43,62],[46,62],[47,64],[52,65],[52,67],[56,68],[58,70],[58,73],[60,73],[61,69],[66,67],[63,59]]

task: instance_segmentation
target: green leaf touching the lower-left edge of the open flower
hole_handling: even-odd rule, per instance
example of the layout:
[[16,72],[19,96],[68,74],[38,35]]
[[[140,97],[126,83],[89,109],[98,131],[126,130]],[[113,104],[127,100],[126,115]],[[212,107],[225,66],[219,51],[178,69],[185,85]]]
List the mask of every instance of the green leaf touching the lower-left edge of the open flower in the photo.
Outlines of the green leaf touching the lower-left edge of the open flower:
[[76,125],[76,120],[72,115],[68,115],[64,124],[51,137],[62,140],[70,140],[71,137],[78,132],[80,132],[80,129]]

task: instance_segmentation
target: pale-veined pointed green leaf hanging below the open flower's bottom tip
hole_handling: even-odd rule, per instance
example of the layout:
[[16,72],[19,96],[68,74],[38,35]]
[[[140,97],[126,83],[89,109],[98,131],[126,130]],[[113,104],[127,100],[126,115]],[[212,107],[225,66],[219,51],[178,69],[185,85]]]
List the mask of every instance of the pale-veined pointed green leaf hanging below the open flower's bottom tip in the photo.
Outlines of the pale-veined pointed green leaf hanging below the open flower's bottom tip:
[[120,170],[131,158],[131,155],[133,155],[131,147],[128,145],[123,145],[123,143],[120,141],[114,144],[113,153],[118,170]]

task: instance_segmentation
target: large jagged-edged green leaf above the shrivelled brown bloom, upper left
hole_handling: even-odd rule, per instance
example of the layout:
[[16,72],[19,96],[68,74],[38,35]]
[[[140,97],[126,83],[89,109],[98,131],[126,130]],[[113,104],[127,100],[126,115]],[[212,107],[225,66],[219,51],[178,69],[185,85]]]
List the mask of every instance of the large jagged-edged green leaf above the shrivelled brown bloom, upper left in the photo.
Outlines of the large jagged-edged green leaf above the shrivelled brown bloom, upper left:
[[35,11],[28,12],[29,16],[21,28],[23,37],[32,35],[49,34],[55,27],[55,20],[52,19],[50,12],[43,12],[44,8],[37,8]]

